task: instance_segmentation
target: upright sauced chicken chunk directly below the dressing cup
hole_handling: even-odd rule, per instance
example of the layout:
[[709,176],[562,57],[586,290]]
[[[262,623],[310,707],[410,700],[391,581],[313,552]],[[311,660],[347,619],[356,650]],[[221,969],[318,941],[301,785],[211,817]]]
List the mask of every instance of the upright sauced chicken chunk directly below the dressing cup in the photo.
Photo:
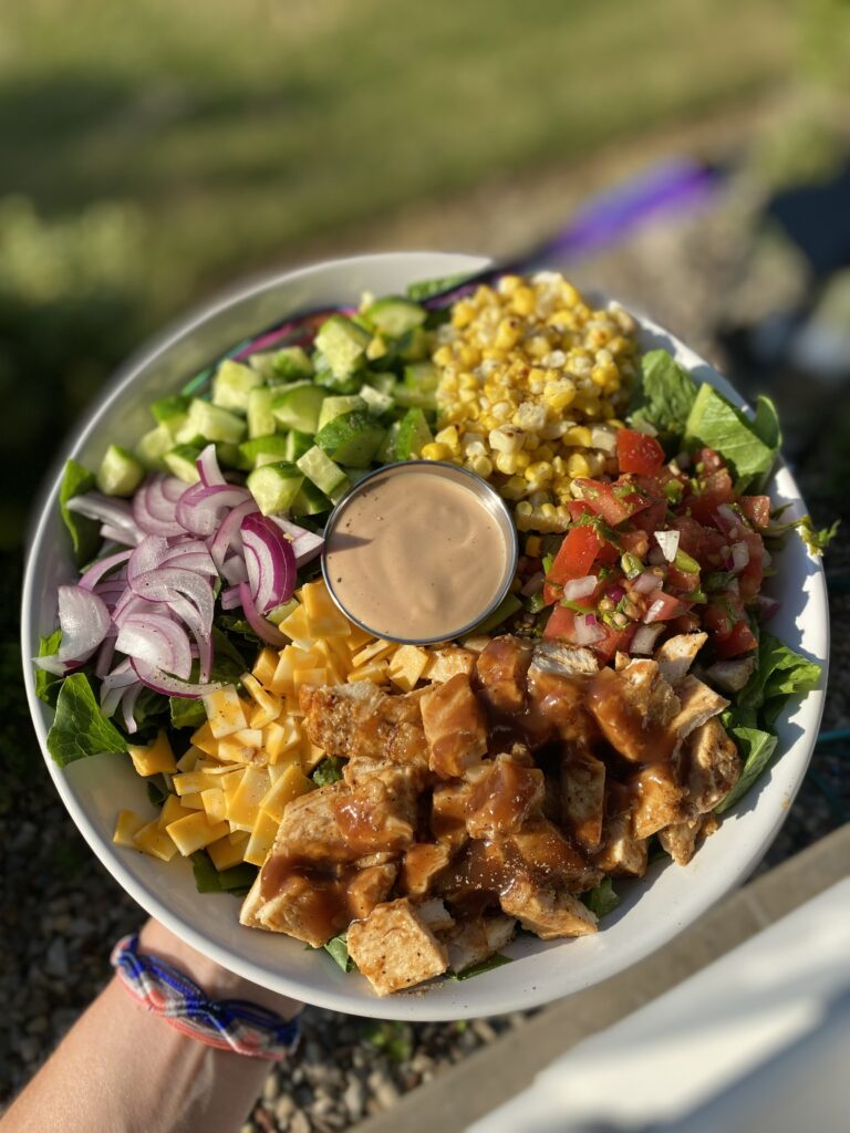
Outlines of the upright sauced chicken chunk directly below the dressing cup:
[[486,753],[486,719],[464,673],[425,692],[422,722],[430,749],[428,765],[442,778],[460,778]]

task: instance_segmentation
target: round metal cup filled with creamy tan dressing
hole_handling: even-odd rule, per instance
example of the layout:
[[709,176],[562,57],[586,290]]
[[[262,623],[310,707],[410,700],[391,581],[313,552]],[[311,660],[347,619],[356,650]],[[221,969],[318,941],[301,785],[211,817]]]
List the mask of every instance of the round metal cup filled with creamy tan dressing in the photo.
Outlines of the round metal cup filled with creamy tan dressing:
[[508,555],[471,483],[411,469],[375,476],[346,503],[325,543],[325,577],[380,637],[435,641],[484,616]]

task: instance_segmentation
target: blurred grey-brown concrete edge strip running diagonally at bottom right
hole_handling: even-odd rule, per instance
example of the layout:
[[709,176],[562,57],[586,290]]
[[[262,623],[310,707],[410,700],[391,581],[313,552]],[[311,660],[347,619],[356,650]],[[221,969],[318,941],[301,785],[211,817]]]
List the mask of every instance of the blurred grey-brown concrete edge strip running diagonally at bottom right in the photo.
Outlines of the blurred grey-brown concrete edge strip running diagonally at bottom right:
[[655,999],[850,874],[850,824],[738,889],[626,972],[545,1007],[526,1024],[411,1090],[358,1133],[461,1133],[526,1089],[583,1039]]

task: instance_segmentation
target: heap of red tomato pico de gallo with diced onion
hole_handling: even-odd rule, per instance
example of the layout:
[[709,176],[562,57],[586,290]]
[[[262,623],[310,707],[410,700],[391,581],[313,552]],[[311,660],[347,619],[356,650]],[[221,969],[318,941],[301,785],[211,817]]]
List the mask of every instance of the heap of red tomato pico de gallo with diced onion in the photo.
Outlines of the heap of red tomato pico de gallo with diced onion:
[[751,621],[774,605],[759,594],[770,499],[738,494],[714,450],[666,461],[636,429],[618,432],[617,460],[614,480],[573,482],[572,526],[541,568],[543,636],[605,661],[696,630],[716,661],[753,653]]

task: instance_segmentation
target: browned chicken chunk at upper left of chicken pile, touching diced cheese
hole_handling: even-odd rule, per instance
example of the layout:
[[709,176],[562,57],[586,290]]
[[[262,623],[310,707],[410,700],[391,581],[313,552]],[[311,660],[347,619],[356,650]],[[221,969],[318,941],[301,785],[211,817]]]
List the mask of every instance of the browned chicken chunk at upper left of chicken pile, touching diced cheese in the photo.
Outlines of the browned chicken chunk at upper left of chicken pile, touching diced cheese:
[[311,741],[329,756],[425,767],[420,693],[388,696],[371,681],[309,687],[298,695]]

